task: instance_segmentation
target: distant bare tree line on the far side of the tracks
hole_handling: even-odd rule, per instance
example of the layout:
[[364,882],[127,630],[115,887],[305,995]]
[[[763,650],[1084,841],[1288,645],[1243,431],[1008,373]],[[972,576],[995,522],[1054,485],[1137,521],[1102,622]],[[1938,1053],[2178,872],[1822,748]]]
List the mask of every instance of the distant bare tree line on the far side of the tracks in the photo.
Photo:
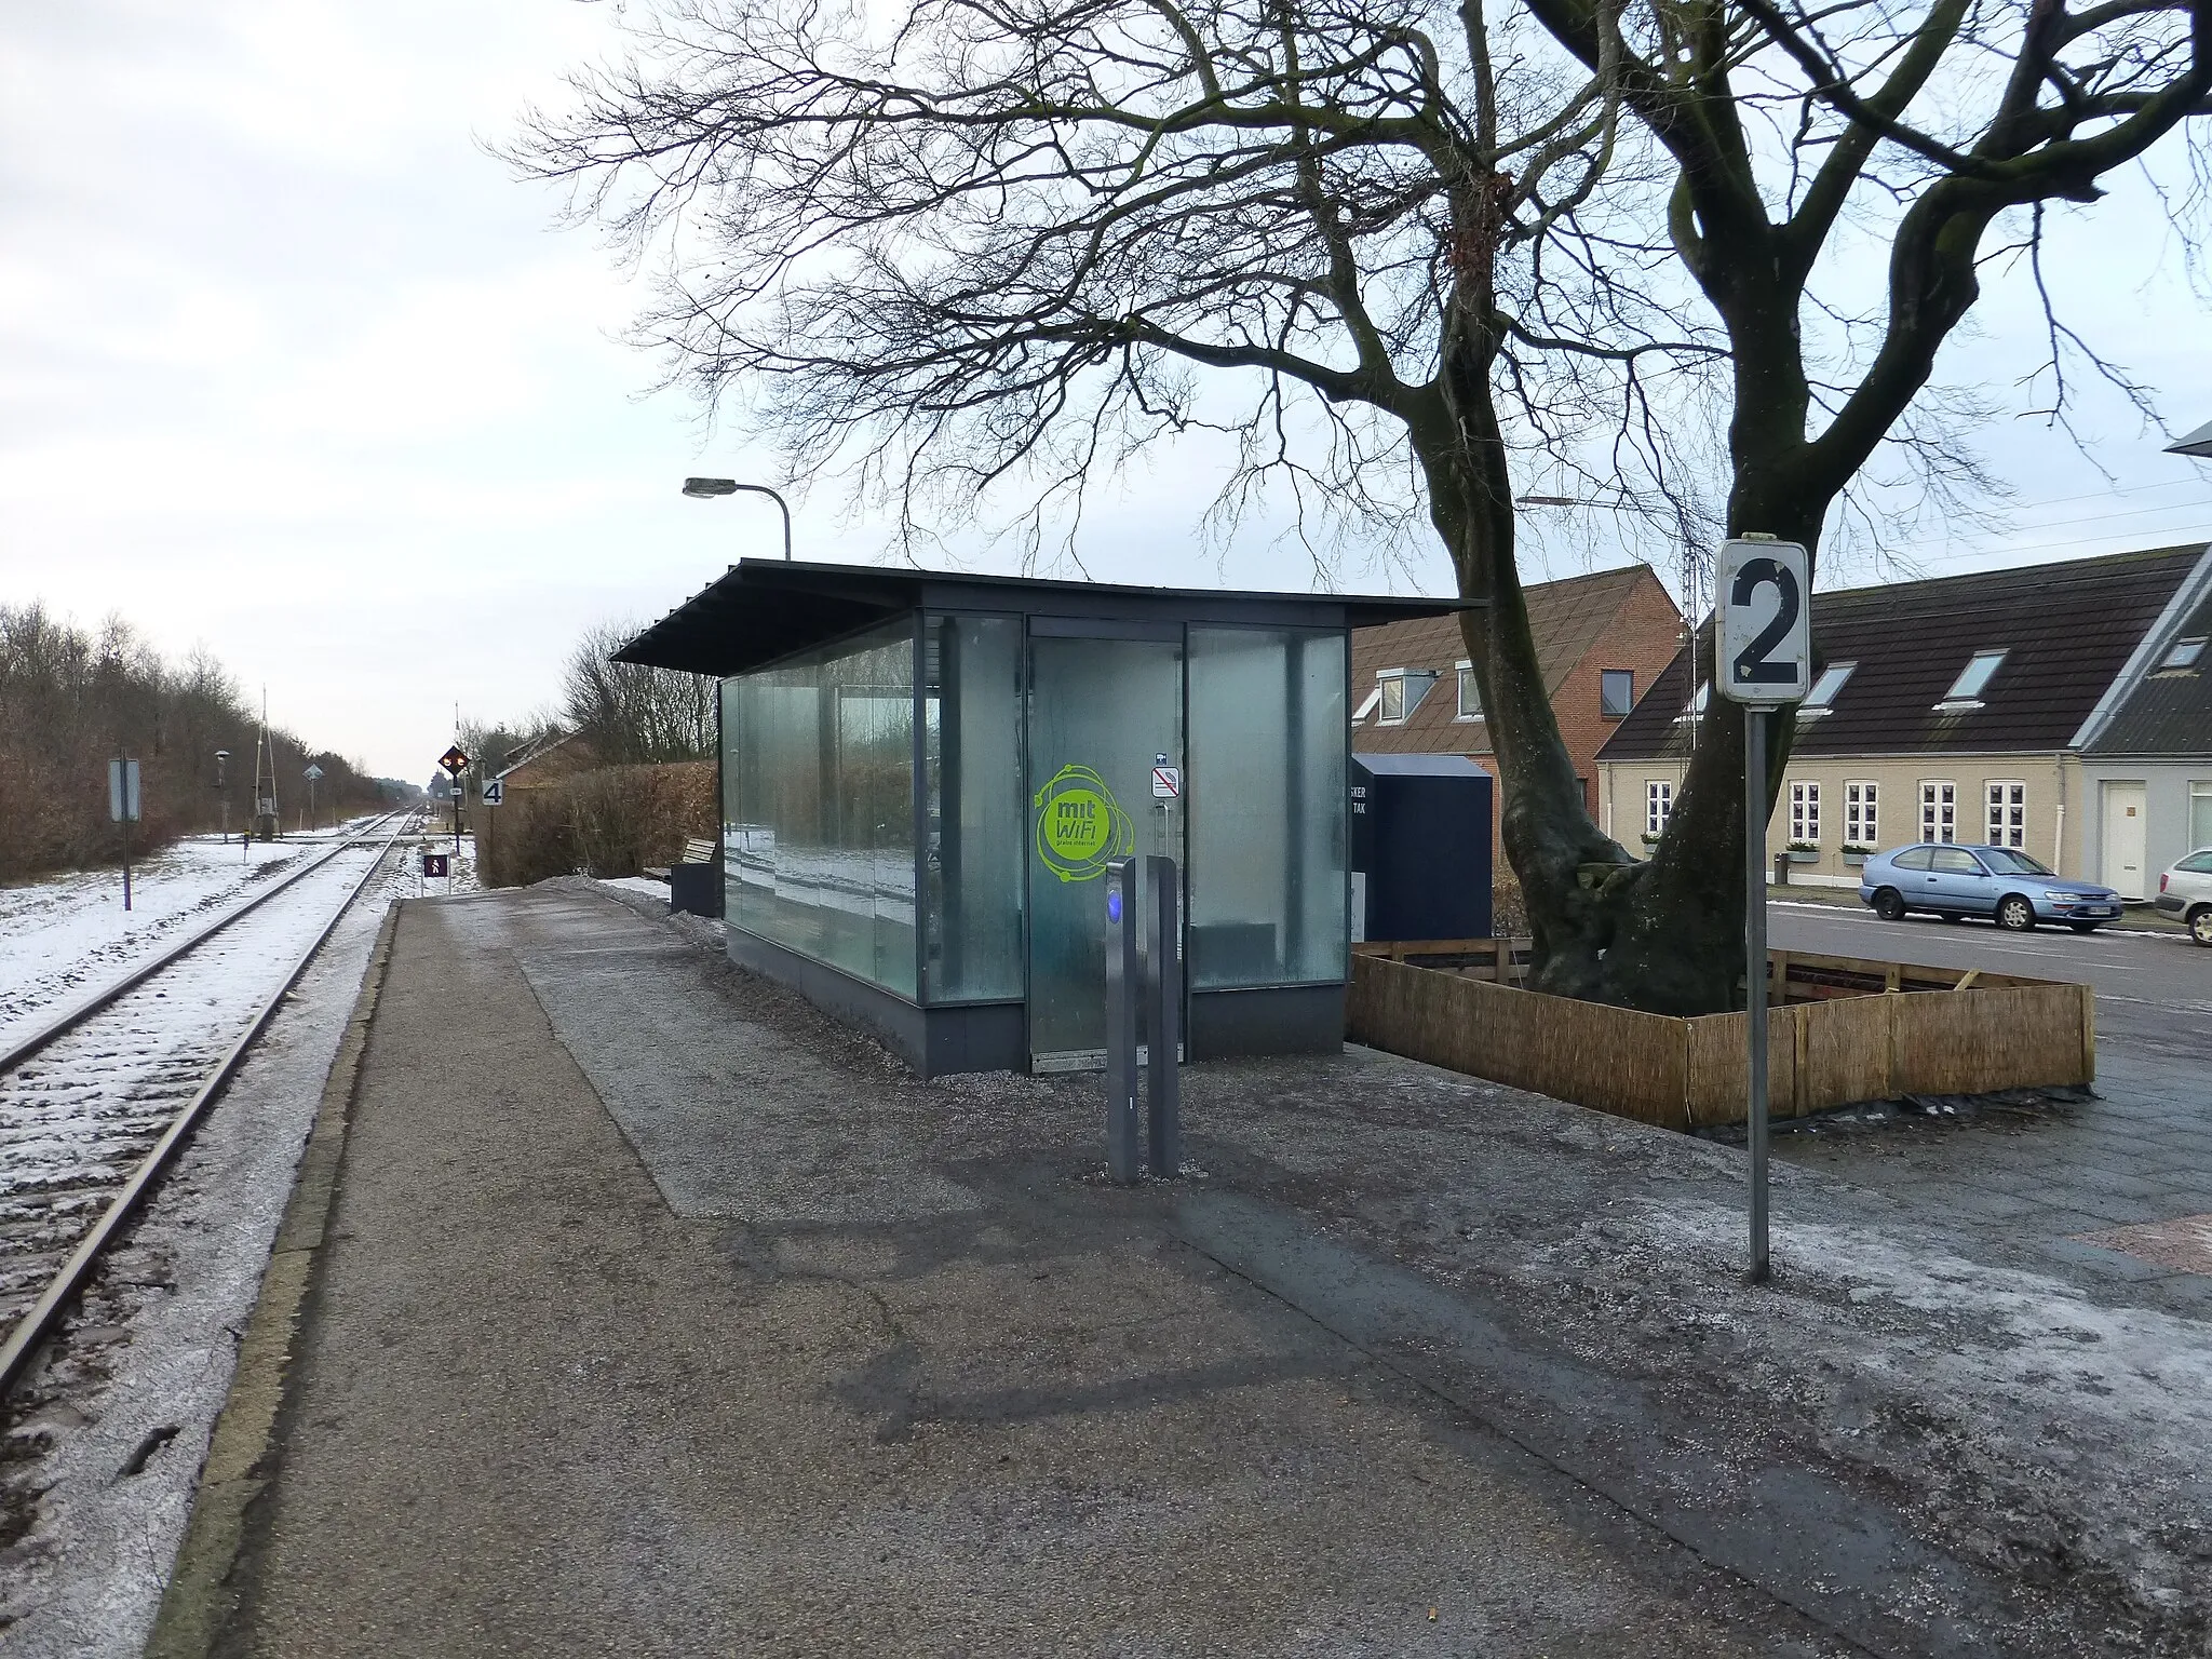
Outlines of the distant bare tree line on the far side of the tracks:
[[[230,750],[230,827],[241,830],[252,814],[259,728],[259,712],[206,650],[168,661],[122,617],[88,633],[40,604],[0,604],[0,880],[119,856],[108,761],[126,750],[139,761],[144,812],[133,847],[221,823],[217,750]],[[407,792],[288,730],[272,730],[270,745],[285,827],[307,805],[307,765],[323,768],[314,803],[325,821]]]

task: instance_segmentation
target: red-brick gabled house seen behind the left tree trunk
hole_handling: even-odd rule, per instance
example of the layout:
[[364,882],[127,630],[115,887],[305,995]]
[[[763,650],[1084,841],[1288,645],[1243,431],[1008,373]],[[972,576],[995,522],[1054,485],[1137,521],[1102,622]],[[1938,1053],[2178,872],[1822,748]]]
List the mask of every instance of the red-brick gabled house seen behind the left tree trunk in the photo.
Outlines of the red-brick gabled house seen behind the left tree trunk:
[[[1559,737],[1595,812],[1597,750],[1681,650],[1681,611],[1648,564],[1540,582],[1526,597]],[[1464,754],[1498,776],[1458,617],[1354,628],[1352,710],[1356,752]],[[1502,843],[1495,856],[1504,869]]]

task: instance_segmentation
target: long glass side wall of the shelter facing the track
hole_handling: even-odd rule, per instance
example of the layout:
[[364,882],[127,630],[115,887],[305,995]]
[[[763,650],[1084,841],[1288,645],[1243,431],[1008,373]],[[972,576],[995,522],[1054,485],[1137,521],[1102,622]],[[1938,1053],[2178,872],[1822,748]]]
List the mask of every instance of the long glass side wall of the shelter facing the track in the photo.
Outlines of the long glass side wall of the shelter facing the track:
[[723,681],[728,920],[914,995],[914,622]]

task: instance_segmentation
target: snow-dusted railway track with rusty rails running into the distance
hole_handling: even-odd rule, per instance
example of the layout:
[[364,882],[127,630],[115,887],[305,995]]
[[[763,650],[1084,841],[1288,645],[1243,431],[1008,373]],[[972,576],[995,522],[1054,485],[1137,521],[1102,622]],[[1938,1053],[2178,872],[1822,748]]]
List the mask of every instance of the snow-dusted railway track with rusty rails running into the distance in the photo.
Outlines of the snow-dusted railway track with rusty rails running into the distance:
[[0,1053],[0,1396],[414,814],[387,814]]

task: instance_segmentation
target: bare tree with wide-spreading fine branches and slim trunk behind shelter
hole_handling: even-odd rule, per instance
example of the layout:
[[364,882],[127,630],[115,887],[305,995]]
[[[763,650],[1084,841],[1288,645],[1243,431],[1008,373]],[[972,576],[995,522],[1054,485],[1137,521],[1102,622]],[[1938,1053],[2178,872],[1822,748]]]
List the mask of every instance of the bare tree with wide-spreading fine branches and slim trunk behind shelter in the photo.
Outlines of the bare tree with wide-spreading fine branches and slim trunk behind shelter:
[[1663,389],[1721,349],[1641,279],[1668,173],[1613,46],[1577,66],[1473,0],[668,0],[637,42],[515,159],[664,272],[641,338],[794,471],[847,462],[911,535],[1015,491],[1033,560],[1102,471],[1214,431],[1217,511],[1265,491],[1316,573],[1427,520],[1484,602],[1540,982],[1590,984],[1588,872],[1626,854],[1546,697],[1511,462],[1694,533]]

